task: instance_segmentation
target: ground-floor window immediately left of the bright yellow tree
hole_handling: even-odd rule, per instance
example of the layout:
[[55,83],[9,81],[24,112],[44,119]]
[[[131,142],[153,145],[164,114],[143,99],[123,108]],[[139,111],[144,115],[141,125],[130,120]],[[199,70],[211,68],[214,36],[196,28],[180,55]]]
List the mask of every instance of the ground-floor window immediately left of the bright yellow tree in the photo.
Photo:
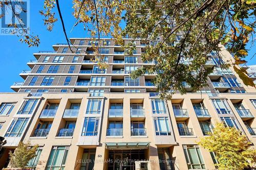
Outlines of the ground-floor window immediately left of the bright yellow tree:
[[198,145],[183,145],[188,169],[205,169],[204,160]]

